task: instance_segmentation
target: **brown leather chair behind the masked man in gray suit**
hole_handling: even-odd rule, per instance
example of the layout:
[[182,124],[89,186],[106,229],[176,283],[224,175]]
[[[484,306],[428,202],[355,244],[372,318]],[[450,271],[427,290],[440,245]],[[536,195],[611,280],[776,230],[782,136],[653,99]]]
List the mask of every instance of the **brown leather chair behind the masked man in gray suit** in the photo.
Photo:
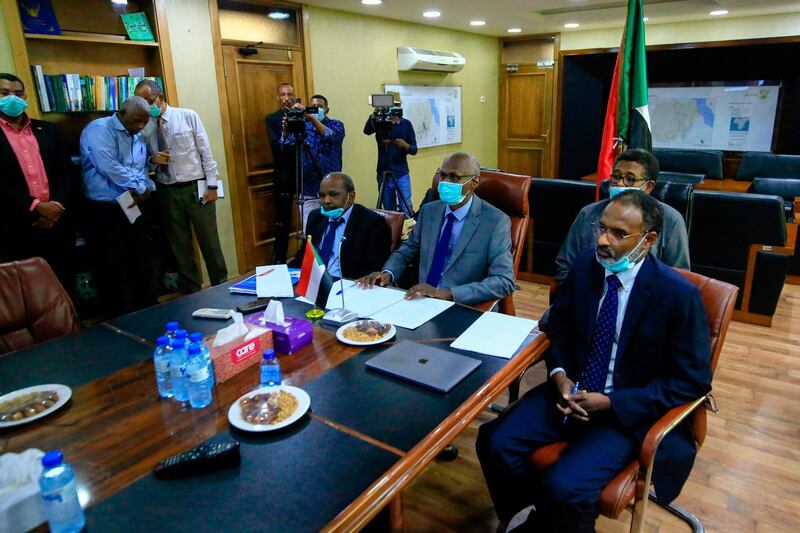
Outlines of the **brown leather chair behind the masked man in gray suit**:
[[[514,258],[514,279],[517,278],[519,263],[522,259],[522,248],[530,221],[528,191],[531,188],[531,177],[522,174],[510,174],[494,170],[481,170],[480,182],[475,194],[489,202],[511,218],[511,255]],[[487,302],[484,305],[488,305]],[[477,306],[482,308],[481,305]],[[491,307],[491,305],[489,305]],[[500,300],[500,312],[516,315],[513,295]]]

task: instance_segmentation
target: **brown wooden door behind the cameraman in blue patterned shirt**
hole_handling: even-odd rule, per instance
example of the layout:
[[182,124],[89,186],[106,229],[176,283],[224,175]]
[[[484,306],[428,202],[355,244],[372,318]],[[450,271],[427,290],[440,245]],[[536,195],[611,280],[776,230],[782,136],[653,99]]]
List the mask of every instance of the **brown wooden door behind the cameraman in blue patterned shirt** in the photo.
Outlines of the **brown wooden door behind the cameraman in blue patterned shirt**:
[[[257,54],[243,57],[237,50],[237,46],[222,46],[233,152],[233,163],[228,163],[229,187],[237,197],[233,216],[244,251],[240,270],[248,272],[272,261],[275,241],[274,164],[266,116],[278,109],[281,83],[292,83],[295,95],[306,99],[301,52],[258,49]],[[296,217],[291,223],[294,232]],[[289,253],[294,249],[296,244],[290,239]]]

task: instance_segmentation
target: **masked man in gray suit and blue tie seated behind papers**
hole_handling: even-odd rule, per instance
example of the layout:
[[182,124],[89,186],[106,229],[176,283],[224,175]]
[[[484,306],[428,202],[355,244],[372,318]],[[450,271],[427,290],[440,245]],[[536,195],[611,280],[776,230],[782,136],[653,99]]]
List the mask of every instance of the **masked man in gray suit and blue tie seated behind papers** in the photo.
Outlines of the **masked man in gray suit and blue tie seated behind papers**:
[[511,220],[473,194],[480,173],[473,155],[456,152],[447,157],[437,172],[441,201],[425,204],[411,236],[383,270],[358,284],[390,285],[410,262],[419,260],[419,283],[408,290],[406,299],[428,296],[472,305],[511,294]]

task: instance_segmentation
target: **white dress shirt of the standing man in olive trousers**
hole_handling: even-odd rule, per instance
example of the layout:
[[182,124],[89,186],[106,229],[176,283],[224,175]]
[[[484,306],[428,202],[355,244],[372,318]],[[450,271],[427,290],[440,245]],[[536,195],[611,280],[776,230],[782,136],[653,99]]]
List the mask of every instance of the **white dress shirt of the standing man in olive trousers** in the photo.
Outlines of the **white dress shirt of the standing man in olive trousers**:
[[142,131],[150,156],[158,152],[159,120],[163,124],[169,163],[156,167],[158,182],[173,185],[205,179],[207,185],[216,185],[219,176],[217,162],[211,154],[208,135],[197,113],[167,105],[160,117],[151,118],[150,124]]

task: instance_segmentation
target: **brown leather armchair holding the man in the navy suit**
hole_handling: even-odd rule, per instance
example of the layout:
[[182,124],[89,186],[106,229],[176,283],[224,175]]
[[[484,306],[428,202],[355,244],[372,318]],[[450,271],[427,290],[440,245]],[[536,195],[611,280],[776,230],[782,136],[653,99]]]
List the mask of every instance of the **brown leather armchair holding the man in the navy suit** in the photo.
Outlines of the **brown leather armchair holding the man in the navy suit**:
[[[707,278],[694,272],[685,270],[678,271],[686,276],[700,290],[703,305],[708,315],[708,327],[711,332],[711,372],[717,368],[719,354],[725,342],[725,335],[728,332],[733,317],[733,308],[736,303],[736,294],[739,289],[729,283]],[[642,531],[645,521],[645,511],[647,508],[648,497],[658,503],[658,500],[650,494],[650,484],[653,474],[653,462],[656,450],[661,440],[680,422],[689,419],[695,436],[697,449],[703,444],[706,436],[706,409],[703,406],[710,406],[716,410],[713,398],[707,394],[696,400],[679,405],[671,409],[661,417],[648,431],[642,443],[639,456],[630,462],[622,472],[611,480],[600,493],[598,508],[600,514],[609,518],[617,518],[619,514],[633,502],[633,519],[631,520],[631,531]],[[544,446],[531,455],[531,465],[537,470],[545,470],[558,461],[561,453],[569,444],[566,442],[556,442]],[[661,505],[661,504],[659,504]],[[688,522],[693,531],[702,531],[703,526],[693,514],[678,507],[675,504],[665,506],[671,513],[679,516]]]

